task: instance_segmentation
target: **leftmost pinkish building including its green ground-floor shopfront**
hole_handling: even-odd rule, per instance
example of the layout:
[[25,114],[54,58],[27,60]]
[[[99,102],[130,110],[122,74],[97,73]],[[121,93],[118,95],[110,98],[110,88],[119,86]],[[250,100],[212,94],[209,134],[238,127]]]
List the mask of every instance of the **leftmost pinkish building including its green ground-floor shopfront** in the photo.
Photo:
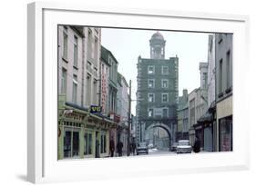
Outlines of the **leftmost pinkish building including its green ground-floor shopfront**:
[[101,30],[58,26],[58,160],[109,155],[117,124],[91,113],[99,105]]

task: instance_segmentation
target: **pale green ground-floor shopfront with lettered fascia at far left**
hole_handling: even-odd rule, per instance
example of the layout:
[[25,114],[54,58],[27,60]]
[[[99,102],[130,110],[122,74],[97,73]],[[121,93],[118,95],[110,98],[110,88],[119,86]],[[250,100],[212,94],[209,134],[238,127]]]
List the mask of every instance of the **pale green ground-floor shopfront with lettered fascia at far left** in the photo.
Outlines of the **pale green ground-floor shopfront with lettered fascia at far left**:
[[109,134],[117,123],[65,103],[58,117],[58,160],[109,156]]

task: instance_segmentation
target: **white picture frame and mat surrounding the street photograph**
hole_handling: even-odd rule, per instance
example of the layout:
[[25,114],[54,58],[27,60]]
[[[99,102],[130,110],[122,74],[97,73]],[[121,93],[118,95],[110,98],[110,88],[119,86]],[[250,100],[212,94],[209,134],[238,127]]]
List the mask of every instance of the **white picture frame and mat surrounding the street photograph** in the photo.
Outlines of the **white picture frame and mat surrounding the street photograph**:
[[[28,181],[87,181],[249,169],[249,122],[244,122],[248,105],[242,102],[248,95],[242,88],[249,77],[237,75],[246,74],[247,70],[244,64],[249,55],[248,16],[41,2],[29,4],[27,13]],[[57,24],[233,33],[233,152],[57,161]],[[239,110],[241,107],[243,111]],[[136,169],[135,164],[139,165]],[[108,167],[108,171],[100,167]]]

